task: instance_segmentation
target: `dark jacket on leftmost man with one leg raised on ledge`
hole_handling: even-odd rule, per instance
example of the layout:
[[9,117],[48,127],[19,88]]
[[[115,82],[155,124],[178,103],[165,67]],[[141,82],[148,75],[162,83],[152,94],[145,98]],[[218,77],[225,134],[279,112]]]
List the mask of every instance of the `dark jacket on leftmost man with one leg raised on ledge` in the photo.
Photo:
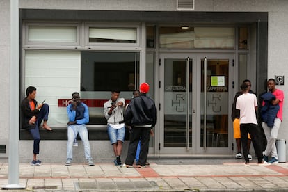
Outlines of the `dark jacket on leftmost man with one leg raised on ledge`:
[[31,110],[30,104],[29,104],[29,99],[25,97],[25,99],[22,100],[21,102],[21,125],[22,129],[30,129],[35,127],[35,125],[30,125],[29,120],[33,117],[36,116],[39,113],[39,110],[36,109],[37,106],[37,101],[33,100],[34,105],[35,105],[35,110]]

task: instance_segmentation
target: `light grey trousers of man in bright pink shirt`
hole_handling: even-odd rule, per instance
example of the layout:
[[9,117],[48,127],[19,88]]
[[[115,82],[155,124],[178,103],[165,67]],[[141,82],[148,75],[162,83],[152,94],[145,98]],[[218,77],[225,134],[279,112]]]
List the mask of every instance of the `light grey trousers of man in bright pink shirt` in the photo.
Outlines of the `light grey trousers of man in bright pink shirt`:
[[269,156],[271,154],[271,157],[275,157],[275,159],[278,159],[277,149],[275,145],[275,141],[278,136],[278,131],[281,125],[280,118],[275,118],[273,127],[268,127],[266,122],[262,122],[262,127],[267,139],[267,145],[266,150],[264,154],[266,156]]

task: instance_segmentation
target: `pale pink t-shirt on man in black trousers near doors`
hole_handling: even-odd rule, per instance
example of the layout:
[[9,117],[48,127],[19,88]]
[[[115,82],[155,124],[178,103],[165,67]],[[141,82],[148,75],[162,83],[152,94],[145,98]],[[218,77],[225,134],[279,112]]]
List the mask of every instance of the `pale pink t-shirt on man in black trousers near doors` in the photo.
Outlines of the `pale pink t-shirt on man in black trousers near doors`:
[[255,106],[258,106],[257,98],[256,95],[252,93],[243,93],[237,98],[236,109],[240,110],[240,124],[258,124],[255,114]]

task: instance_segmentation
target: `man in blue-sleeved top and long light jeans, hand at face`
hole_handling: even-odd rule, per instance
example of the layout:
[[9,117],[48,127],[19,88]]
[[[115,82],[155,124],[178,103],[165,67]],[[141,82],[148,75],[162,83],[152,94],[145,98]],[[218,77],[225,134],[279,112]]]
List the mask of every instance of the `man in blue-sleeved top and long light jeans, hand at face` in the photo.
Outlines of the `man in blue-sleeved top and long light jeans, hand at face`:
[[88,140],[88,130],[86,124],[89,122],[88,106],[80,101],[80,95],[77,92],[72,94],[72,103],[67,106],[67,159],[65,166],[71,166],[73,156],[73,142],[79,134],[83,145],[85,158],[89,166],[94,166],[91,157],[90,144]]

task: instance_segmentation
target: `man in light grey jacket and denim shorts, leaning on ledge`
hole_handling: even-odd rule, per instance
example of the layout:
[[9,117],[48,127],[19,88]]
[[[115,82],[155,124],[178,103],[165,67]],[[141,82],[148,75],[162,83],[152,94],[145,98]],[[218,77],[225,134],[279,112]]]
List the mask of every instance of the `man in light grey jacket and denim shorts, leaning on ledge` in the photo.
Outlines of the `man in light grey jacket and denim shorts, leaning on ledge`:
[[112,90],[111,98],[104,103],[104,115],[107,120],[107,131],[116,159],[115,166],[120,166],[122,144],[125,139],[124,109],[125,99],[120,98],[120,90]]

